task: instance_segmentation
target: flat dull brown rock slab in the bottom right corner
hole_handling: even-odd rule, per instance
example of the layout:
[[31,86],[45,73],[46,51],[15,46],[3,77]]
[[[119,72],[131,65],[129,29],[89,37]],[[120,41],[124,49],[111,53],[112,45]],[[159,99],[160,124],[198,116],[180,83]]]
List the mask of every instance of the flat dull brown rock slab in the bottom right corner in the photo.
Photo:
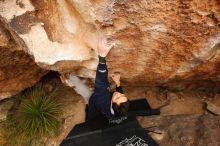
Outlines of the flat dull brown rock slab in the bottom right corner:
[[140,117],[142,127],[161,132],[151,133],[160,146],[219,146],[220,118],[203,116]]

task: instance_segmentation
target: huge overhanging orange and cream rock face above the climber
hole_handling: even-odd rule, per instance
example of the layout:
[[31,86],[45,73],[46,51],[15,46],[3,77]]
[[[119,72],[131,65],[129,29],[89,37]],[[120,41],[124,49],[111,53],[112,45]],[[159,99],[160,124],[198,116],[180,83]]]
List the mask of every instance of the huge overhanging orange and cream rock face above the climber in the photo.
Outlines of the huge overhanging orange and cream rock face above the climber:
[[42,68],[94,78],[100,33],[126,84],[219,86],[218,0],[9,0],[0,10]]

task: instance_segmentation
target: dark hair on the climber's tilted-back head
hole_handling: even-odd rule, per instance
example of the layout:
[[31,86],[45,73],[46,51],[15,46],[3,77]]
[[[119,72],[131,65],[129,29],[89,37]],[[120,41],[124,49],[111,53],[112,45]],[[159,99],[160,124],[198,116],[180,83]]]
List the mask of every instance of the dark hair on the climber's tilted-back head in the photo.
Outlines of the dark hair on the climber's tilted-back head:
[[112,108],[115,112],[115,115],[117,116],[128,116],[128,110],[129,110],[130,102],[129,100],[127,102],[123,102],[120,105],[117,105],[116,103],[112,103]]

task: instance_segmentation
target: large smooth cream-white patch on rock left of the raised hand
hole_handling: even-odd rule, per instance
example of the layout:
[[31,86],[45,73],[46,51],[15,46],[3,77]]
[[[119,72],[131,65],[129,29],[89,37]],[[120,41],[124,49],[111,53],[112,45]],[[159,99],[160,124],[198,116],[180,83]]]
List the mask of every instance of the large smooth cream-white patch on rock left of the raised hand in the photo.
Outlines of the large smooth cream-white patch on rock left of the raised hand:
[[34,56],[35,62],[52,65],[61,60],[89,60],[89,49],[82,46],[77,40],[65,43],[52,42],[41,24],[32,26],[27,34],[20,37],[29,48],[29,53]]

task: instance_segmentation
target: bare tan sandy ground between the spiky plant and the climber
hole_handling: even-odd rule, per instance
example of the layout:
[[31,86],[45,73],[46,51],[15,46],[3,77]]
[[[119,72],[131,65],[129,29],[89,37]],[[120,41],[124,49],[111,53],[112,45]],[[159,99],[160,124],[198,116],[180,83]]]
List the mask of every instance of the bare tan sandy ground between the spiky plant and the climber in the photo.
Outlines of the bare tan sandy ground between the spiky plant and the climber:
[[[56,84],[54,84],[54,81],[57,81]],[[45,145],[58,146],[76,124],[85,121],[85,103],[73,88],[63,85],[60,81],[52,80],[49,85],[52,87],[59,86],[56,100],[62,106],[62,115],[60,117],[62,119],[62,125],[59,136],[46,138]]]

